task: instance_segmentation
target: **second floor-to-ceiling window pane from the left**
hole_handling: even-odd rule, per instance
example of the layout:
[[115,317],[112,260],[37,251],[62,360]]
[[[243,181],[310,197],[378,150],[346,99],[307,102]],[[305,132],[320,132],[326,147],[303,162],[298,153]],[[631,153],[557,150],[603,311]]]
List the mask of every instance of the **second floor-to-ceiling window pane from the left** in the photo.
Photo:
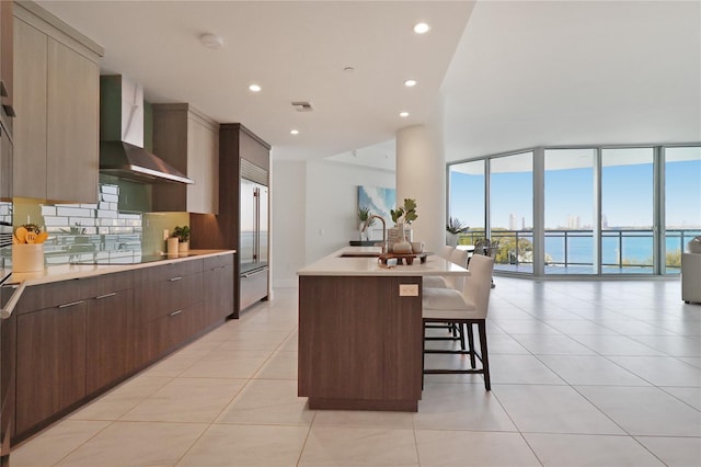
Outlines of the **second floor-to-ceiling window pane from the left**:
[[490,235],[495,270],[533,272],[533,152],[490,159]]

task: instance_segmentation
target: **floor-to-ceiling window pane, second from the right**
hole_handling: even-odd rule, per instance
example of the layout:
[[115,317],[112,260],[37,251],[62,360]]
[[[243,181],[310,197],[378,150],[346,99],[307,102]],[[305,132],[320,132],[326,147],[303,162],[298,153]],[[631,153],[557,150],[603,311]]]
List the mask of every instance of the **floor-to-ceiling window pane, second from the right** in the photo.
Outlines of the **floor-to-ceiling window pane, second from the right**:
[[653,148],[601,150],[601,274],[652,274]]

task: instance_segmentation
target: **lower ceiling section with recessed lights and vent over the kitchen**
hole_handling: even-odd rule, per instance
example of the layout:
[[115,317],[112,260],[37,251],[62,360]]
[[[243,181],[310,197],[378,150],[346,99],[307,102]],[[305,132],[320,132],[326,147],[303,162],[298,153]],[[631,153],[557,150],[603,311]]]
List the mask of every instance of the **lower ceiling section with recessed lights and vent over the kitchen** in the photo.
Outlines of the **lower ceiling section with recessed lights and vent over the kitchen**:
[[[189,102],[240,122],[277,158],[322,158],[422,123],[473,2],[39,1],[105,48],[103,73],[140,82],[151,102]],[[418,36],[420,21],[432,31]],[[223,38],[219,50],[203,33]],[[354,71],[344,71],[345,67]],[[415,79],[414,88],[404,87]],[[250,83],[263,90],[253,94]],[[292,101],[314,111],[298,113]],[[407,111],[411,116],[400,118]],[[291,136],[291,128],[300,134]]]

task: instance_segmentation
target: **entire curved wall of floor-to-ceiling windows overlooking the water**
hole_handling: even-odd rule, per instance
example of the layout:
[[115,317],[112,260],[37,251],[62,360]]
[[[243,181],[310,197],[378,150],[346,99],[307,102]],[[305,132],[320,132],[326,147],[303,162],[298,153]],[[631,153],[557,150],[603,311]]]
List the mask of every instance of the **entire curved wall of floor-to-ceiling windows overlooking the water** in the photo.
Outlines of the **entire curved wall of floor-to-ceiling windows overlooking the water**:
[[448,214],[501,242],[502,272],[678,274],[686,244],[701,235],[698,144],[542,148],[449,164],[448,173]]

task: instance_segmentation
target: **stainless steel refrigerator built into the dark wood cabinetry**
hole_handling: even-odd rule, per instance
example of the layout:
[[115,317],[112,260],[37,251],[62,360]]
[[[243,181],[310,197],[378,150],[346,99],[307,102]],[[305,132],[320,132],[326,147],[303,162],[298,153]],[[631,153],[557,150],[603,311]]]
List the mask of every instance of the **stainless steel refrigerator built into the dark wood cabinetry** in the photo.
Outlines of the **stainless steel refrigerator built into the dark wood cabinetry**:
[[267,186],[241,179],[239,271],[240,309],[267,297],[268,289],[268,191]]

